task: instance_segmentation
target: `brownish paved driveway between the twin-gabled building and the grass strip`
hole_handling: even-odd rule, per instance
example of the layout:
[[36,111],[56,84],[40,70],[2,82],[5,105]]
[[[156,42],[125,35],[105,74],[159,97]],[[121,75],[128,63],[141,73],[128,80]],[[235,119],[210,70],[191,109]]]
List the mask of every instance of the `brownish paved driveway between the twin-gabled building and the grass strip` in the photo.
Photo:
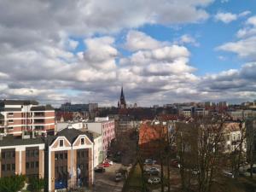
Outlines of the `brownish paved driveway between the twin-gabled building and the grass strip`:
[[92,191],[96,192],[119,192],[122,191],[125,178],[115,182],[115,172],[122,167],[121,164],[113,163],[113,166],[106,167],[106,172],[95,172],[95,185]]

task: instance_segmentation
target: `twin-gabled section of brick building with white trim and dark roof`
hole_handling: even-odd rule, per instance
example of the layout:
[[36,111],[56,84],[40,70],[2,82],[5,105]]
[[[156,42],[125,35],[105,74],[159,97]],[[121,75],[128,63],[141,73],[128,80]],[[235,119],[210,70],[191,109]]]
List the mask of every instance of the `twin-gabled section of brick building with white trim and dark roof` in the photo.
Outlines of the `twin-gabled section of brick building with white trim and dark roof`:
[[93,183],[93,142],[88,132],[64,129],[48,137],[48,190],[73,189]]

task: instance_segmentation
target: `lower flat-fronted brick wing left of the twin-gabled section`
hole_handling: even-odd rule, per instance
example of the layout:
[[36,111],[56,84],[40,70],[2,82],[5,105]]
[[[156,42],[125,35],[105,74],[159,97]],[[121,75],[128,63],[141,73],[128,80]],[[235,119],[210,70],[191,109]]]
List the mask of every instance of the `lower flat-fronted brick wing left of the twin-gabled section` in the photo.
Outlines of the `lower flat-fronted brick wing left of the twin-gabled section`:
[[44,140],[4,137],[0,141],[0,177],[44,177]]

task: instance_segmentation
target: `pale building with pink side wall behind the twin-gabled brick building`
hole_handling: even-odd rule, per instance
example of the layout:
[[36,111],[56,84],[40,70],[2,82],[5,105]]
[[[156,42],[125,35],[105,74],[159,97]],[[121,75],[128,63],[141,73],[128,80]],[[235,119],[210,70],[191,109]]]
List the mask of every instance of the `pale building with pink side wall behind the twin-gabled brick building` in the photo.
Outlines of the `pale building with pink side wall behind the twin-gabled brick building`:
[[102,150],[105,156],[112,140],[115,138],[114,120],[108,119],[108,117],[95,118],[95,121],[85,122],[84,124],[89,131],[102,135]]

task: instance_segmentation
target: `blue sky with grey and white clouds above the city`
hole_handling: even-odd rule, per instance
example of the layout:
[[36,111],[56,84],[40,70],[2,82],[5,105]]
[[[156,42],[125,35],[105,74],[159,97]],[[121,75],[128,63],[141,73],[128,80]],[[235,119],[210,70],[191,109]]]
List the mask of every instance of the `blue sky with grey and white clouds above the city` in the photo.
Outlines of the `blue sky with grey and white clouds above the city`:
[[256,100],[255,0],[0,0],[0,98]]

